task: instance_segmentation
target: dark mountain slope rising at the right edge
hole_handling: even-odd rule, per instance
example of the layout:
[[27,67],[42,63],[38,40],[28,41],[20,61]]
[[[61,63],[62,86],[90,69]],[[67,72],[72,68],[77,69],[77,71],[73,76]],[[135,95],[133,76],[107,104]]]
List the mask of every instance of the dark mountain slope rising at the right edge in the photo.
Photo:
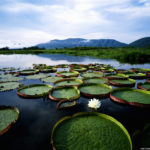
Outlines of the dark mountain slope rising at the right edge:
[[129,44],[132,47],[150,47],[150,37],[141,38]]

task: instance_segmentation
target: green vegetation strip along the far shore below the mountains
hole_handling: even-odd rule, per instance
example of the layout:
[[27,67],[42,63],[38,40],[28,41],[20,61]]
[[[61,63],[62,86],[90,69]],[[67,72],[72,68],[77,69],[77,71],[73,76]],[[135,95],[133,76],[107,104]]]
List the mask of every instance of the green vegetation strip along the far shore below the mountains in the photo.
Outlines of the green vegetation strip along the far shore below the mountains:
[[1,48],[0,54],[67,54],[73,56],[91,56],[95,58],[116,59],[120,63],[142,64],[150,62],[150,47],[148,48],[102,48],[102,47],[74,47],[64,49],[44,49],[29,47],[22,49]]

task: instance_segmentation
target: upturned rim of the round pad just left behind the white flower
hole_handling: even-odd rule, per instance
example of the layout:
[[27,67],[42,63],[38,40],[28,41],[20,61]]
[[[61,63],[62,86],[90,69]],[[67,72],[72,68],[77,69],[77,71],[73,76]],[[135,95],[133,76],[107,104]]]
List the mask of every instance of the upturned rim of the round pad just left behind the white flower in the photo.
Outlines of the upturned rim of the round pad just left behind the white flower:
[[[78,95],[77,96],[73,96],[73,97],[71,97],[69,99],[68,98],[56,98],[56,97],[52,96],[52,93],[53,93],[54,90],[67,89],[67,88],[73,88],[74,90],[76,90]],[[65,87],[64,86],[58,86],[58,87],[53,88],[53,89],[50,90],[48,97],[49,97],[49,99],[51,99],[53,101],[62,101],[62,100],[73,101],[73,100],[76,100],[76,99],[78,99],[80,97],[80,90],[76,86],[65,86]]]

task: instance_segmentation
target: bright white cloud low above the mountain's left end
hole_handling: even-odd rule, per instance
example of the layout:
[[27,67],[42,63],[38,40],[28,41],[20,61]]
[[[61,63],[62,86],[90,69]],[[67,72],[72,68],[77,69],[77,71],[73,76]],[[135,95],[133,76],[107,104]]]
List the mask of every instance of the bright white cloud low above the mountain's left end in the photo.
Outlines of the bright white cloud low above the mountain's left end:
[[33,46],[55,38],[64,38],[30,29],[10,29],[0,31],[0,33],[0,47],[9,46],[11,48]]

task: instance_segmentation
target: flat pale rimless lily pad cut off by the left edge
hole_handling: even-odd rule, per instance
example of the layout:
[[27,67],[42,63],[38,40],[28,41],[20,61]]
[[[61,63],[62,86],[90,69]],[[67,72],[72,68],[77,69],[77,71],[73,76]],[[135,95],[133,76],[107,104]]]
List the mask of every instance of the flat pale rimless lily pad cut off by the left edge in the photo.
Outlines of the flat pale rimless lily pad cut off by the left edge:
[[21,83],[19,82],[2,82],[0,83],[0,92],[14,90],[20,85]]

